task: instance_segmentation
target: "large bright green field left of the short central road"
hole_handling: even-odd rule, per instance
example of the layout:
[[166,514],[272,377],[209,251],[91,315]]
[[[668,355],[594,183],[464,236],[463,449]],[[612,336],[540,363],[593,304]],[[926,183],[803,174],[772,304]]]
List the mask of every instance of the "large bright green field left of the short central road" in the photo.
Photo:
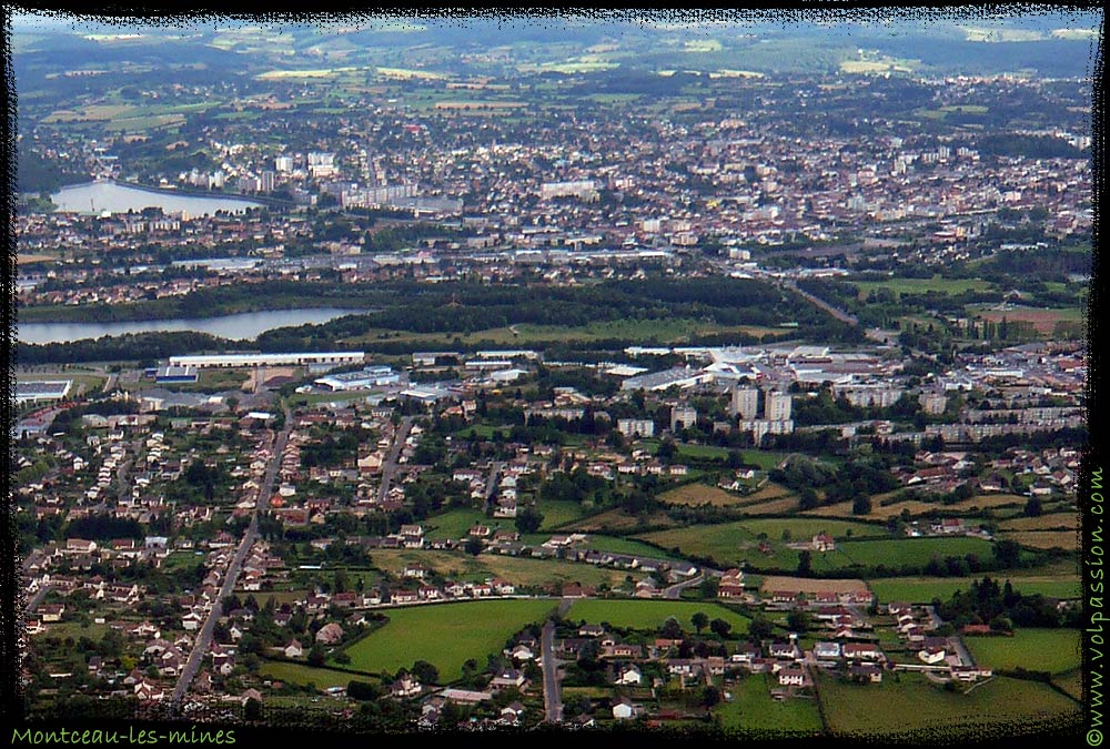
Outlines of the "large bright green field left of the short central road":
[[345,651],[357,670],[396,671],[426,660],[440,669],[441,681],[453,681],[466,660],[485,664],[514,632],[554,608],[549,600],[488,600],[391,609],[384,627]]

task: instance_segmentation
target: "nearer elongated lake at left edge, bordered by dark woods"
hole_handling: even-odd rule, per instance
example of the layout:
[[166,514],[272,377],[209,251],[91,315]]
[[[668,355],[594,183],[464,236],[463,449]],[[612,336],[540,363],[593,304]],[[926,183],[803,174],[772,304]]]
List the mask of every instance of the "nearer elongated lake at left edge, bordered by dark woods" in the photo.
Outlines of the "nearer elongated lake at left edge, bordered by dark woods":
[[320,325],[344,315],[364,314],[369,310],[272,310],[269,312],[244,312],[222,317],[199,320],[149,320],[131,323],[21,323],[16,340],[22,343],[70,343],[102,335],[124,333],[152,333],[195,331],[229,338],[231,341],[253,341],[260,334],[276,327]]

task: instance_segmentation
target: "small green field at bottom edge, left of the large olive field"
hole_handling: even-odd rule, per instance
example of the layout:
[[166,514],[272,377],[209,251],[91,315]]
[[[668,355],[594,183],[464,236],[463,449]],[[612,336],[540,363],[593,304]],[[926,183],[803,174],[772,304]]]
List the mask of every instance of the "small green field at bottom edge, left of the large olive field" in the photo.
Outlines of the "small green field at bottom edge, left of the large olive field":
[[821,716],[817,701],[813,699],[789,699],[778,701],[770,690],[778,687],[770,675],[753,674],[726,688],[733,700],[720,702],[714,715],[720,717],[720,726],[726,731],[758,731],[816,735],[821,731]]

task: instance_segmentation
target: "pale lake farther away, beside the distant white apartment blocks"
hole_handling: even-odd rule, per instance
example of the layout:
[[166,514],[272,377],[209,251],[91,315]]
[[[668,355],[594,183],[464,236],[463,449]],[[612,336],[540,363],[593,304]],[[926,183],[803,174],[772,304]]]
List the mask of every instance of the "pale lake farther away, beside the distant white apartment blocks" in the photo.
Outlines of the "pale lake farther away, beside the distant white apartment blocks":
[[190,216],[212,215],[216,211],[242,213],[248,209],[262,208],[238,198],[202,198],[179,195],[170,191],[144,190],[118,182],[89,182],[62,188],[50,195],[59,211],[70,213],[127,213],[141,212],[144,208],[160,208],[164,213],[184,211]]

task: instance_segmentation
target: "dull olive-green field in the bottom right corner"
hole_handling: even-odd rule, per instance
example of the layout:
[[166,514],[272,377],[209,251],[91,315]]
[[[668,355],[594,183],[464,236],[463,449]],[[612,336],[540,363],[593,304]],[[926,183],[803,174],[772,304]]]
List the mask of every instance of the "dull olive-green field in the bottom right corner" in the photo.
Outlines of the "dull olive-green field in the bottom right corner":
[[[1079,720],[1081,707],[1036,681],[993,677],[969,694],[950,694],[920,674],[900,674],[896,682],[840,684],[821,677],[820,699],[829,728],[837,736],[878,736],[921,731],[920,738],[970,740],[985,729],[1001,733],[1018,723]],[[1057,726],[1057,728],[1062,728]]]

